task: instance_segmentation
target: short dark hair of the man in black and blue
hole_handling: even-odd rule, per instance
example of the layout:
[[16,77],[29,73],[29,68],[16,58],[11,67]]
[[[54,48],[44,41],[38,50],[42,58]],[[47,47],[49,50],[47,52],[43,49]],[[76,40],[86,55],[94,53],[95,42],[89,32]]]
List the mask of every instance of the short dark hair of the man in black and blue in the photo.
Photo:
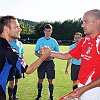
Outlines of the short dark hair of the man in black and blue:
[[2,34],[2,32],[3,32],[4,26],[11,28],[11,26],[10,26],[11,19],[16,20],[16,18],[14,16],[9,16],[9,15],[0,16],[0,34]]

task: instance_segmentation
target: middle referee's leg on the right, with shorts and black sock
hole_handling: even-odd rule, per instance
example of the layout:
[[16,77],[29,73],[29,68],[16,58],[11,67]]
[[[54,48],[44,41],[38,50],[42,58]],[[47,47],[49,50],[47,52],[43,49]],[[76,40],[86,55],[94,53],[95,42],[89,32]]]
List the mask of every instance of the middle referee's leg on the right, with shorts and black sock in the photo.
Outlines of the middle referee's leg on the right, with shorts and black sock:
[[47,66],[47,78],[48,78],[48,88],[49,88],[49,99],[53,100],[54,84],[53,79],[55,78],[55,64],[53,61],[49,61]]

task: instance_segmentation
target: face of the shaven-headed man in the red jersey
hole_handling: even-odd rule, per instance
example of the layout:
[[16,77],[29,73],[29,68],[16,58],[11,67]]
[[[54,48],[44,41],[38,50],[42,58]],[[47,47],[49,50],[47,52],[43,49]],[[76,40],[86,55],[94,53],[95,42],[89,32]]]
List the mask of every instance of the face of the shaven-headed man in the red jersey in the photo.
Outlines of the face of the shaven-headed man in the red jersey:
[[94,30],[96,29],[96,20],[93,16],[89,15],[88,13],[86,13],[83,16],[83,23],[81,25],[81,27],[84,30],[84,33],[86,35],[91,35],[94,33]]

